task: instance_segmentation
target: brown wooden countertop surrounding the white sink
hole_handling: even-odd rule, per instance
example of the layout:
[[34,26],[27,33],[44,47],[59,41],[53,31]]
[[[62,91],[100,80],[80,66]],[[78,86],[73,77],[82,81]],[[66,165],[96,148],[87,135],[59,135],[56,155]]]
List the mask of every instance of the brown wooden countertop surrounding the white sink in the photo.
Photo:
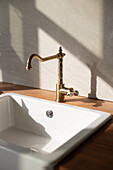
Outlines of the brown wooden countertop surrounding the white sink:
[[[32,87],[0,83],[3,93],[19,93],[55,101],[55,92]],[[87,97],[67,97],[66,104],[109,112],[113,115],[113,102]],[[113,170],[113,119],[62,160],[57,170]]]

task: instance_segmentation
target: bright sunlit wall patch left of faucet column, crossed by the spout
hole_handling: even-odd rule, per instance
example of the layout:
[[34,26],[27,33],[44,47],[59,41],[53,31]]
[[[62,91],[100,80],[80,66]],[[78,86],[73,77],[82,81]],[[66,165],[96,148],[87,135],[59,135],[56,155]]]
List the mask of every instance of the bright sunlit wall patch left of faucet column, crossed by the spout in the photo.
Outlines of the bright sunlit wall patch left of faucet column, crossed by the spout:
[[[37,33],[39,55],[48,57],[57,54],[59,43],[40,28]],[[39,74],[41,88],[55,90],[58,77],[58,59],[39,62]]]

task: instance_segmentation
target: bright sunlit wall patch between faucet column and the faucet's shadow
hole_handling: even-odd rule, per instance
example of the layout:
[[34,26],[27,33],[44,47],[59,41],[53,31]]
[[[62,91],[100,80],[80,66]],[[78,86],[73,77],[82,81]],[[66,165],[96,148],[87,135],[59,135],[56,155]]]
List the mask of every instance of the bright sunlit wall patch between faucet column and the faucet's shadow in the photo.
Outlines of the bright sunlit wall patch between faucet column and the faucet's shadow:
[[80,96],[88,96],[90,91],[90,69],[64,48],[64,83],[67,87],[73,87],[79,91]]

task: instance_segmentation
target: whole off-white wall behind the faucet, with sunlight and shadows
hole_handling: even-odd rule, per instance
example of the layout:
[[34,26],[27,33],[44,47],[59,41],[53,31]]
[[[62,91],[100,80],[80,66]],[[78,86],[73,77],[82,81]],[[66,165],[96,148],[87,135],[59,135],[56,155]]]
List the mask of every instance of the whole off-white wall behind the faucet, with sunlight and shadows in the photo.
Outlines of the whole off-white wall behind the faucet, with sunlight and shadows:
[[55,90],[57,60],[25,66],[62,46],[66,86],[113,101],[112,11],[111,0],[0,0],[0,80]]

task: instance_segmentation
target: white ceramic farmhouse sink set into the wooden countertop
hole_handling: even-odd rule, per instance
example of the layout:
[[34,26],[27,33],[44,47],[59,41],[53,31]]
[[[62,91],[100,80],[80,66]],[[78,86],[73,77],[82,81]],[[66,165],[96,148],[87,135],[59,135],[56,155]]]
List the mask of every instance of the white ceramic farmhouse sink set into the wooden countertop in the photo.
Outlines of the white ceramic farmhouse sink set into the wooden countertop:
[[111,115],[25,95],[0,96],[0,168],[52,170]]

